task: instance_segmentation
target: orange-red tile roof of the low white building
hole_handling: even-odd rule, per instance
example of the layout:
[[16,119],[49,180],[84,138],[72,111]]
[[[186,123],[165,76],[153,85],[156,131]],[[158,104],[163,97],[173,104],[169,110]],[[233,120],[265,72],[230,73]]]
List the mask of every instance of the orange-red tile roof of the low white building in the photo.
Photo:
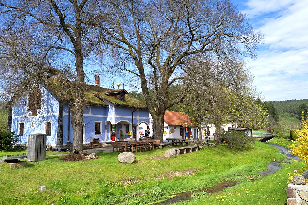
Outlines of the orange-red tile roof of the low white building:
[[185,126],[185,122],[190,123],[189,116],[184,112],[174,112],[169,110],[166,110],[165,112],[164,121],[169,126]]

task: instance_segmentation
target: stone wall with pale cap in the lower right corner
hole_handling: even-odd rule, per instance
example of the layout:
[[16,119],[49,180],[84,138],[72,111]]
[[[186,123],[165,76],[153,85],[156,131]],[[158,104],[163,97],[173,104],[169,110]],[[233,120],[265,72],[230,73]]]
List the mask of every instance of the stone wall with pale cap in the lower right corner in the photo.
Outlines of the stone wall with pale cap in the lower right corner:
[[308,184],[288,184],[287,197],[288,205],[308,205]]

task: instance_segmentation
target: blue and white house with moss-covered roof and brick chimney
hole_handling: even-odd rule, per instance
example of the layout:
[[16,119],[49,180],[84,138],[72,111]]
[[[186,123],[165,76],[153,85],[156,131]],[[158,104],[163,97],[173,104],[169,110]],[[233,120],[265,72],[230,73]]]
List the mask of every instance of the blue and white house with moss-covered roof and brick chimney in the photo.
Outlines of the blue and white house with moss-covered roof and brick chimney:
[[[20,135],[19,143],[27,144],[28,135],[46,133],[53,147],[63,148],[73,141],[70,122],[69,97],[61,90],[57,80],[37,85],[11,105],[8,131]],[[116,138],[139,140],[139,125],[149,125],[149,112],[145,104],[126,95],[124,89],[111,90],[99,86],[99,75],[95,85],[86,85],[83,109],[83,143],[97,137],[100,142],[111,139],[111,124],[115,124]]]

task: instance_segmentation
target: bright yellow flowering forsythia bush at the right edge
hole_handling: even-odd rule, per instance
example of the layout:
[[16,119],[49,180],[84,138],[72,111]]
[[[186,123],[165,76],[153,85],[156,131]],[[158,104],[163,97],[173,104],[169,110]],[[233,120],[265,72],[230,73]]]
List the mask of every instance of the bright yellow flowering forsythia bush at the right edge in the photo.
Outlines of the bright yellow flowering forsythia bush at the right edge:
[[298,156],[300,159],[305,160],[308,163],[308,119],[303,120],[302,129],[296,129],[294,131],[297,134],[297,139],[293,144],[288,146],[294,156]]

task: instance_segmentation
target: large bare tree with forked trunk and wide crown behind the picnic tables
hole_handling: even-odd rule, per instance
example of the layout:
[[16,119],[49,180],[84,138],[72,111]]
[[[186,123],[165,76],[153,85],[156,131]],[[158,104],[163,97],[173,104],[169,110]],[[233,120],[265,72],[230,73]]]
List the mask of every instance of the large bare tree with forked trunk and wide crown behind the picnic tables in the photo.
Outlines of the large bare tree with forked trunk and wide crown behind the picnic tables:
[[[109,45],[117,70],[140,79],[153,117],[154,137],[162,139],[164,113],[183,98],[169,99],[168,87],[183,78],[187,58],[202,53],[221,58],[250,55],[262,35],[229,0],[104,0],[87,25]],[[151,92],[150,92],[151,91]]]

